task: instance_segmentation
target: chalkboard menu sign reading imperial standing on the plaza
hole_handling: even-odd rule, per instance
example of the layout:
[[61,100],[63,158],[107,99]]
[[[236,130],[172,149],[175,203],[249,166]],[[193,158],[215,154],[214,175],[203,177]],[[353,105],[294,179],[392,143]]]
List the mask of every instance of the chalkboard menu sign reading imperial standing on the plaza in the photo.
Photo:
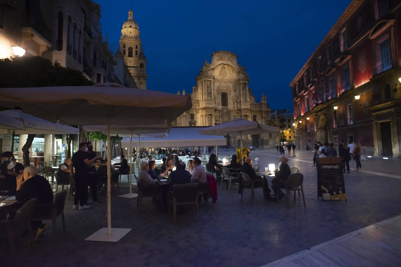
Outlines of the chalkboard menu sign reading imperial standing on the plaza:
[[344,199],[345,185],[339,157],[318,158],[318,198]]

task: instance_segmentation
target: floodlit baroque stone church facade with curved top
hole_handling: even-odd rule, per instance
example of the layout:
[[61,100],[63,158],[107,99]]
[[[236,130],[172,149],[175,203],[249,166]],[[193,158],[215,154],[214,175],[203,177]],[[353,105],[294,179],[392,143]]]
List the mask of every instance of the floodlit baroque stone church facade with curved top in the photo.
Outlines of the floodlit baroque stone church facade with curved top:
[[[260,102],[256,102],[248,87],[249,76],[237,58],[232,52],[217,51],[210,63],[205,60],[190,93],[192,108],[176,118],[173,126],[212,126],[235,118],[273,125],[266,96],[262,94]],[[182,94],[186,94],[185,90]],[[276,133],[248,135],[243,137],[243,145],[274,147],[277,138]],[[227,138],[227,146],[239,146],[239,137]]]

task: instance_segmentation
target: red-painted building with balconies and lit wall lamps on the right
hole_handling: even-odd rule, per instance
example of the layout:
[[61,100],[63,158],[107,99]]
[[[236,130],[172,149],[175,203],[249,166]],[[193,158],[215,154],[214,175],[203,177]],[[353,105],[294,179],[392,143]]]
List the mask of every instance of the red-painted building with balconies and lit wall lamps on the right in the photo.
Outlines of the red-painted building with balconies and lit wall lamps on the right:
[[293,90],[296,144],[359,142],[401,157],[401,0],[354,0],[304,64]]

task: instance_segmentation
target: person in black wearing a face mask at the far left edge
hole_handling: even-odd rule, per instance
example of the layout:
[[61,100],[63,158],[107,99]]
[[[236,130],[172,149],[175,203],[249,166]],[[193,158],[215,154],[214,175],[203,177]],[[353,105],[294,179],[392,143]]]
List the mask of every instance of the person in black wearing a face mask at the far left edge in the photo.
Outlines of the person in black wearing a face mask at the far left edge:
[[17,188],[17,179],[24,173],[24,165],[14,159],[12,152],[6,151],[0,156],[2,165],[0,165],[0,193],[14,195]]

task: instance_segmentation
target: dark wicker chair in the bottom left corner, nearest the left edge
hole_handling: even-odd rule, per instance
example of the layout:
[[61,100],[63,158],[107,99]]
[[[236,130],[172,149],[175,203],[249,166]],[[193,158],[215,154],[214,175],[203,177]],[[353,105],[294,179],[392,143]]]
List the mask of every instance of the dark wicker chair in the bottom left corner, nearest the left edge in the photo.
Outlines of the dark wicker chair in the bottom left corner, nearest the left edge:
[[33,246],[34,237],[30,225],[30,217],[37,202],[37,199],[26,201],[26,203],[18,209],[14,219],[10,221],[0,221],[0,237],[8,238],[12,253],[15,253],[15,237],[18,237],[25,229],[29,231],[30,245],[31,247]]

